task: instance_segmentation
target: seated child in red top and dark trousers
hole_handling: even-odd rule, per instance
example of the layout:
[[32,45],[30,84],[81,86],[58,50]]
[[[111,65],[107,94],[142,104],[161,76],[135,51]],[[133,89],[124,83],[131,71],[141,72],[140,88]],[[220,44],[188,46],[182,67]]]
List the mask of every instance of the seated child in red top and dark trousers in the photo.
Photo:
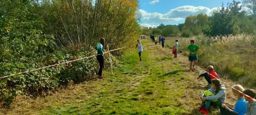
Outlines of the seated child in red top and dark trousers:
[[201,74],[197,79],[200,77],[204,77],[205,80],[208,82],[207,88],[211,88],[211,80],[215,78],[219,78],[218,74],[214,71],[213,66],[207,67],[208,72]]

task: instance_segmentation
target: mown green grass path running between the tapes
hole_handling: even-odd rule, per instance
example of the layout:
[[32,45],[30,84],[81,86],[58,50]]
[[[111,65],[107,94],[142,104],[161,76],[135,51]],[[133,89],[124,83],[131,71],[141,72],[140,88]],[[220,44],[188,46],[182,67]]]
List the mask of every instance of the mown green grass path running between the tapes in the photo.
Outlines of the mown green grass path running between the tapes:
[[[174,44],[172,39],[168,44]],[[181,55],[173,58],[169,48],[149,40],[142,43],[142,62],[134,49],[113,75],[104,71],[105,79],[75,84],[47,97],[18,96],[11,106],[2,106],[0,115],[200,115],[199,98],[207,82],[196,77],[203,71],[189,71],[188,61]],[[231,89],[226,89],[227,101],[234,102]],[[210,115],[218,115],[218,110]]]

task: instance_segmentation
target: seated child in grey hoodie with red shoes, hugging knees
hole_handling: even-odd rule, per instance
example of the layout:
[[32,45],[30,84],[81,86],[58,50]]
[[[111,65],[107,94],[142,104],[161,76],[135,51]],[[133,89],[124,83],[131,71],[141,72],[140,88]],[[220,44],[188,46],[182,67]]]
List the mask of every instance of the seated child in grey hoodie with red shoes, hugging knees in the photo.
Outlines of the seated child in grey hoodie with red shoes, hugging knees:
[[204,91],[201,97],[202,104],[200,106],[200,112],[207,115],[209,114],[210,104],[220,107],[222,113],[225,109],[222,108],[221,104],[225,103],[226,99],[226,88],[223,84],[220,84],[219,79],[212,80],[212,87],[208,91]]

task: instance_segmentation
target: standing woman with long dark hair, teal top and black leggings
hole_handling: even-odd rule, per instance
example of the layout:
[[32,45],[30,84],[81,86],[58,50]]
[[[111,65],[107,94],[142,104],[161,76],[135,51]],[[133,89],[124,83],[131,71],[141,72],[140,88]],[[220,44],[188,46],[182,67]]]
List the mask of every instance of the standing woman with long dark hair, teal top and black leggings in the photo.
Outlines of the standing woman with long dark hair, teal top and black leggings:
[[102,77],[102,70],[104,68],[104,54],[103,54],[103,49],[105,47],[105,39],[104,38],[100,38],[100,43],[97,44],[97,46],[95,47],[95,49],[98,51],[98,55],[96,56],[98,62],[100,63],[100,69],[98,72],[98,78],[102,79],[104,77]]

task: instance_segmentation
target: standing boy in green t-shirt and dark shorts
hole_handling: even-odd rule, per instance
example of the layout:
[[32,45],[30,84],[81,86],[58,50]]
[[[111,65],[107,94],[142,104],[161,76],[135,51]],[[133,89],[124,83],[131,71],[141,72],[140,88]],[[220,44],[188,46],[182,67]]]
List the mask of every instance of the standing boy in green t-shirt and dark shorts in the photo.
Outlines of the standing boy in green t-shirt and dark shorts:
[[190,40],[190,45],[188,45],[187,49],[189,52],[188,60],[190,61],[190,70],[192,69],[192,66],[193,66],[193,69],[196,69],[195,64],[198,61],[197,53],[198,53],[199,47],[197,44],[195,44],[194,40]]

